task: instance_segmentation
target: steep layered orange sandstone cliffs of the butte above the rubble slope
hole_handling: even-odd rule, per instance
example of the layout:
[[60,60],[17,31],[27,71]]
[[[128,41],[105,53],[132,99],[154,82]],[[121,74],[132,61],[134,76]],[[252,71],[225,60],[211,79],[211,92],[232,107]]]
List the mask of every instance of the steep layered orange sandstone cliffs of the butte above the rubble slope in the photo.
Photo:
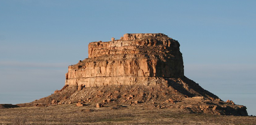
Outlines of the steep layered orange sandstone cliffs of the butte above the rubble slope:
[[88,47],[89,58],[69,66],[67,85],[145,85],[158,78],[184,77],[180,44],[164,34],[125,34]]

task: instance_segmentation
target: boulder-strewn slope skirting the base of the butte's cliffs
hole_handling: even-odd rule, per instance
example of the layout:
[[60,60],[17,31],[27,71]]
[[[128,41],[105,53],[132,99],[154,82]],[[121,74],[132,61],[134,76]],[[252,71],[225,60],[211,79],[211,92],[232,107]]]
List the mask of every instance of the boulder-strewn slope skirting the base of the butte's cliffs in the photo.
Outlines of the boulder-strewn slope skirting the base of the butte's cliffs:
[[17,105],[26,107],[79,103],[83,104],[82,106],[96,106],[100,103],[103,106],[134,106],[144,103],[158,109],[172,108],[189,110],[193,113],[248,115],[245,106],[224,102],[188,78],[158,79],[155,83],[157,84],[108,85],[93,88],[66,86],[65,89],[56,91],[48,97]]

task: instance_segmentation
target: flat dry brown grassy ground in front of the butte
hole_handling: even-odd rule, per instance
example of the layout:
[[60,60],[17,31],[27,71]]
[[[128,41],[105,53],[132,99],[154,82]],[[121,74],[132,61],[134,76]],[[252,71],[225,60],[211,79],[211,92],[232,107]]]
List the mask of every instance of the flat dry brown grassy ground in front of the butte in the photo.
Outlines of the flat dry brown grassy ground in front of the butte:
[[0,125],[256,125],[254,116],[191,113],[137,105],[96,108],[62,104],[48,107],[0,109]]

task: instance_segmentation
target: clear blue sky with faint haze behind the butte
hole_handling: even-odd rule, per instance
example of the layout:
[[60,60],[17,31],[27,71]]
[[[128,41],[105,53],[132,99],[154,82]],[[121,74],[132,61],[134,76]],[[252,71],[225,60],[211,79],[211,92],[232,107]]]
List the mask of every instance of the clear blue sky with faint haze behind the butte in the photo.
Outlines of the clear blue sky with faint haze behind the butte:
[[0,103],[65,84],[93,41],[164,33],[180,42],[185,75],[256,115],[255,0],[0,0]]

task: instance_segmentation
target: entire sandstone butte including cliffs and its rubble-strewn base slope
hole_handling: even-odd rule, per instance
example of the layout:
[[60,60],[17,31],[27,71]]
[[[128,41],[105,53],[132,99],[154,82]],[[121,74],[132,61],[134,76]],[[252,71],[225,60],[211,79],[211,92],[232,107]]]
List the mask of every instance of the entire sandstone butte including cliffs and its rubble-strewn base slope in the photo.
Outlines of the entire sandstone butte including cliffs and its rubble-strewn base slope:
[[89,58],[69,66],[61,90],[17,106],[143,103],[159,109],[248,116],[245,106],[224,102],[185,77],[179,47],[178,41],[161,33],[124,34],[120,40],[89,43]]

